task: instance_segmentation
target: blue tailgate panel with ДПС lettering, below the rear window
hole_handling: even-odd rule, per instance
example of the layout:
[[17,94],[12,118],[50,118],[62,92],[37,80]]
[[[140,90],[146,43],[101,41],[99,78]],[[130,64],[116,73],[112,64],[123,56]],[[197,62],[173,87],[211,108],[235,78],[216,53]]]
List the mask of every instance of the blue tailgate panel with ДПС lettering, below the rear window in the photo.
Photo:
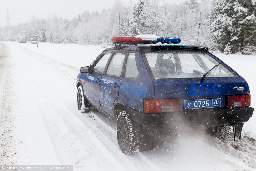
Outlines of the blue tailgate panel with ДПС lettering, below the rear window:
[[[221,107],[225,106],[226,95],[249,94],[249,87],[243,78],[208,78],[201,79],[170,79],[154,80],[155,98],[180,98],[180,107],[184,100],[221,98]],[[243,87],[237,91],[235,87]]]

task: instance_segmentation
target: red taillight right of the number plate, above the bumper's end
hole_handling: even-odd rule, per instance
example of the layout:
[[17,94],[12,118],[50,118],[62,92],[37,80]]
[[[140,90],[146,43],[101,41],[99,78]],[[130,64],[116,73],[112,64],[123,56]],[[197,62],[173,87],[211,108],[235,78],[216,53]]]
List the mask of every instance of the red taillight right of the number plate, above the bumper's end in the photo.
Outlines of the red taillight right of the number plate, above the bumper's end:
[[227,96],[228,108],[248,107],[251,105],[251,95]]

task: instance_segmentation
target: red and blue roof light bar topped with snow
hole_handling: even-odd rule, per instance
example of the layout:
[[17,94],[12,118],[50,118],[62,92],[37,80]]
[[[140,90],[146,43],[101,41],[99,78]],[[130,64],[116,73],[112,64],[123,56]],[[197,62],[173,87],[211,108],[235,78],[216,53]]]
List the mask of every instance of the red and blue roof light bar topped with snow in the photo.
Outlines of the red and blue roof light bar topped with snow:
[[150,34],[141,34],[134,37],[117,37],[114,36],[111,38],[111,42],[114,44],[128,44],[128,45],[136,45],[136,44],[157,44],[157,43],[174,43],[178,44],[181,42],[179,38],[172,37],[159,37],[156,35]]

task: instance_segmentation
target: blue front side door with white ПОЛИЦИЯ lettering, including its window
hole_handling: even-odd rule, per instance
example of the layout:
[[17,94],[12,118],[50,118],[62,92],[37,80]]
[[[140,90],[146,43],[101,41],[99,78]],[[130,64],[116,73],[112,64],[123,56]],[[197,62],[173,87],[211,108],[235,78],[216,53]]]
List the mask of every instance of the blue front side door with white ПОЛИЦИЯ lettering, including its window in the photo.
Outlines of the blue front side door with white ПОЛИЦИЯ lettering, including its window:
[[85,78],[85,83],[83,84],[83,90],[87,100],[98,108],[101,108],[99,104],[99,84],[110,56],[111,51],[103,53],[96,59],[92,66],[90,66],[90,71]]

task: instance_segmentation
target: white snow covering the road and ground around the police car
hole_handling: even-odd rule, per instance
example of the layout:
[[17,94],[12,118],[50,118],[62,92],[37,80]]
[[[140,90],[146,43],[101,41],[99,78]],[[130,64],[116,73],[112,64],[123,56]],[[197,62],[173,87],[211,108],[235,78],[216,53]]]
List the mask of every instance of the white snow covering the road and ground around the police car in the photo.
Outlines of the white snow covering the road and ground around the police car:
[[[0,165],[73,165],[83,170],[256,170],[256,116],[242,139],[219,141],[204,132],[156,136],[154,150],[126,156],[116,123],[95,109],[81,114],[76,76],[103,47],[0,42]],[[255,56],[217,56],[248,82],[256,106]]]

